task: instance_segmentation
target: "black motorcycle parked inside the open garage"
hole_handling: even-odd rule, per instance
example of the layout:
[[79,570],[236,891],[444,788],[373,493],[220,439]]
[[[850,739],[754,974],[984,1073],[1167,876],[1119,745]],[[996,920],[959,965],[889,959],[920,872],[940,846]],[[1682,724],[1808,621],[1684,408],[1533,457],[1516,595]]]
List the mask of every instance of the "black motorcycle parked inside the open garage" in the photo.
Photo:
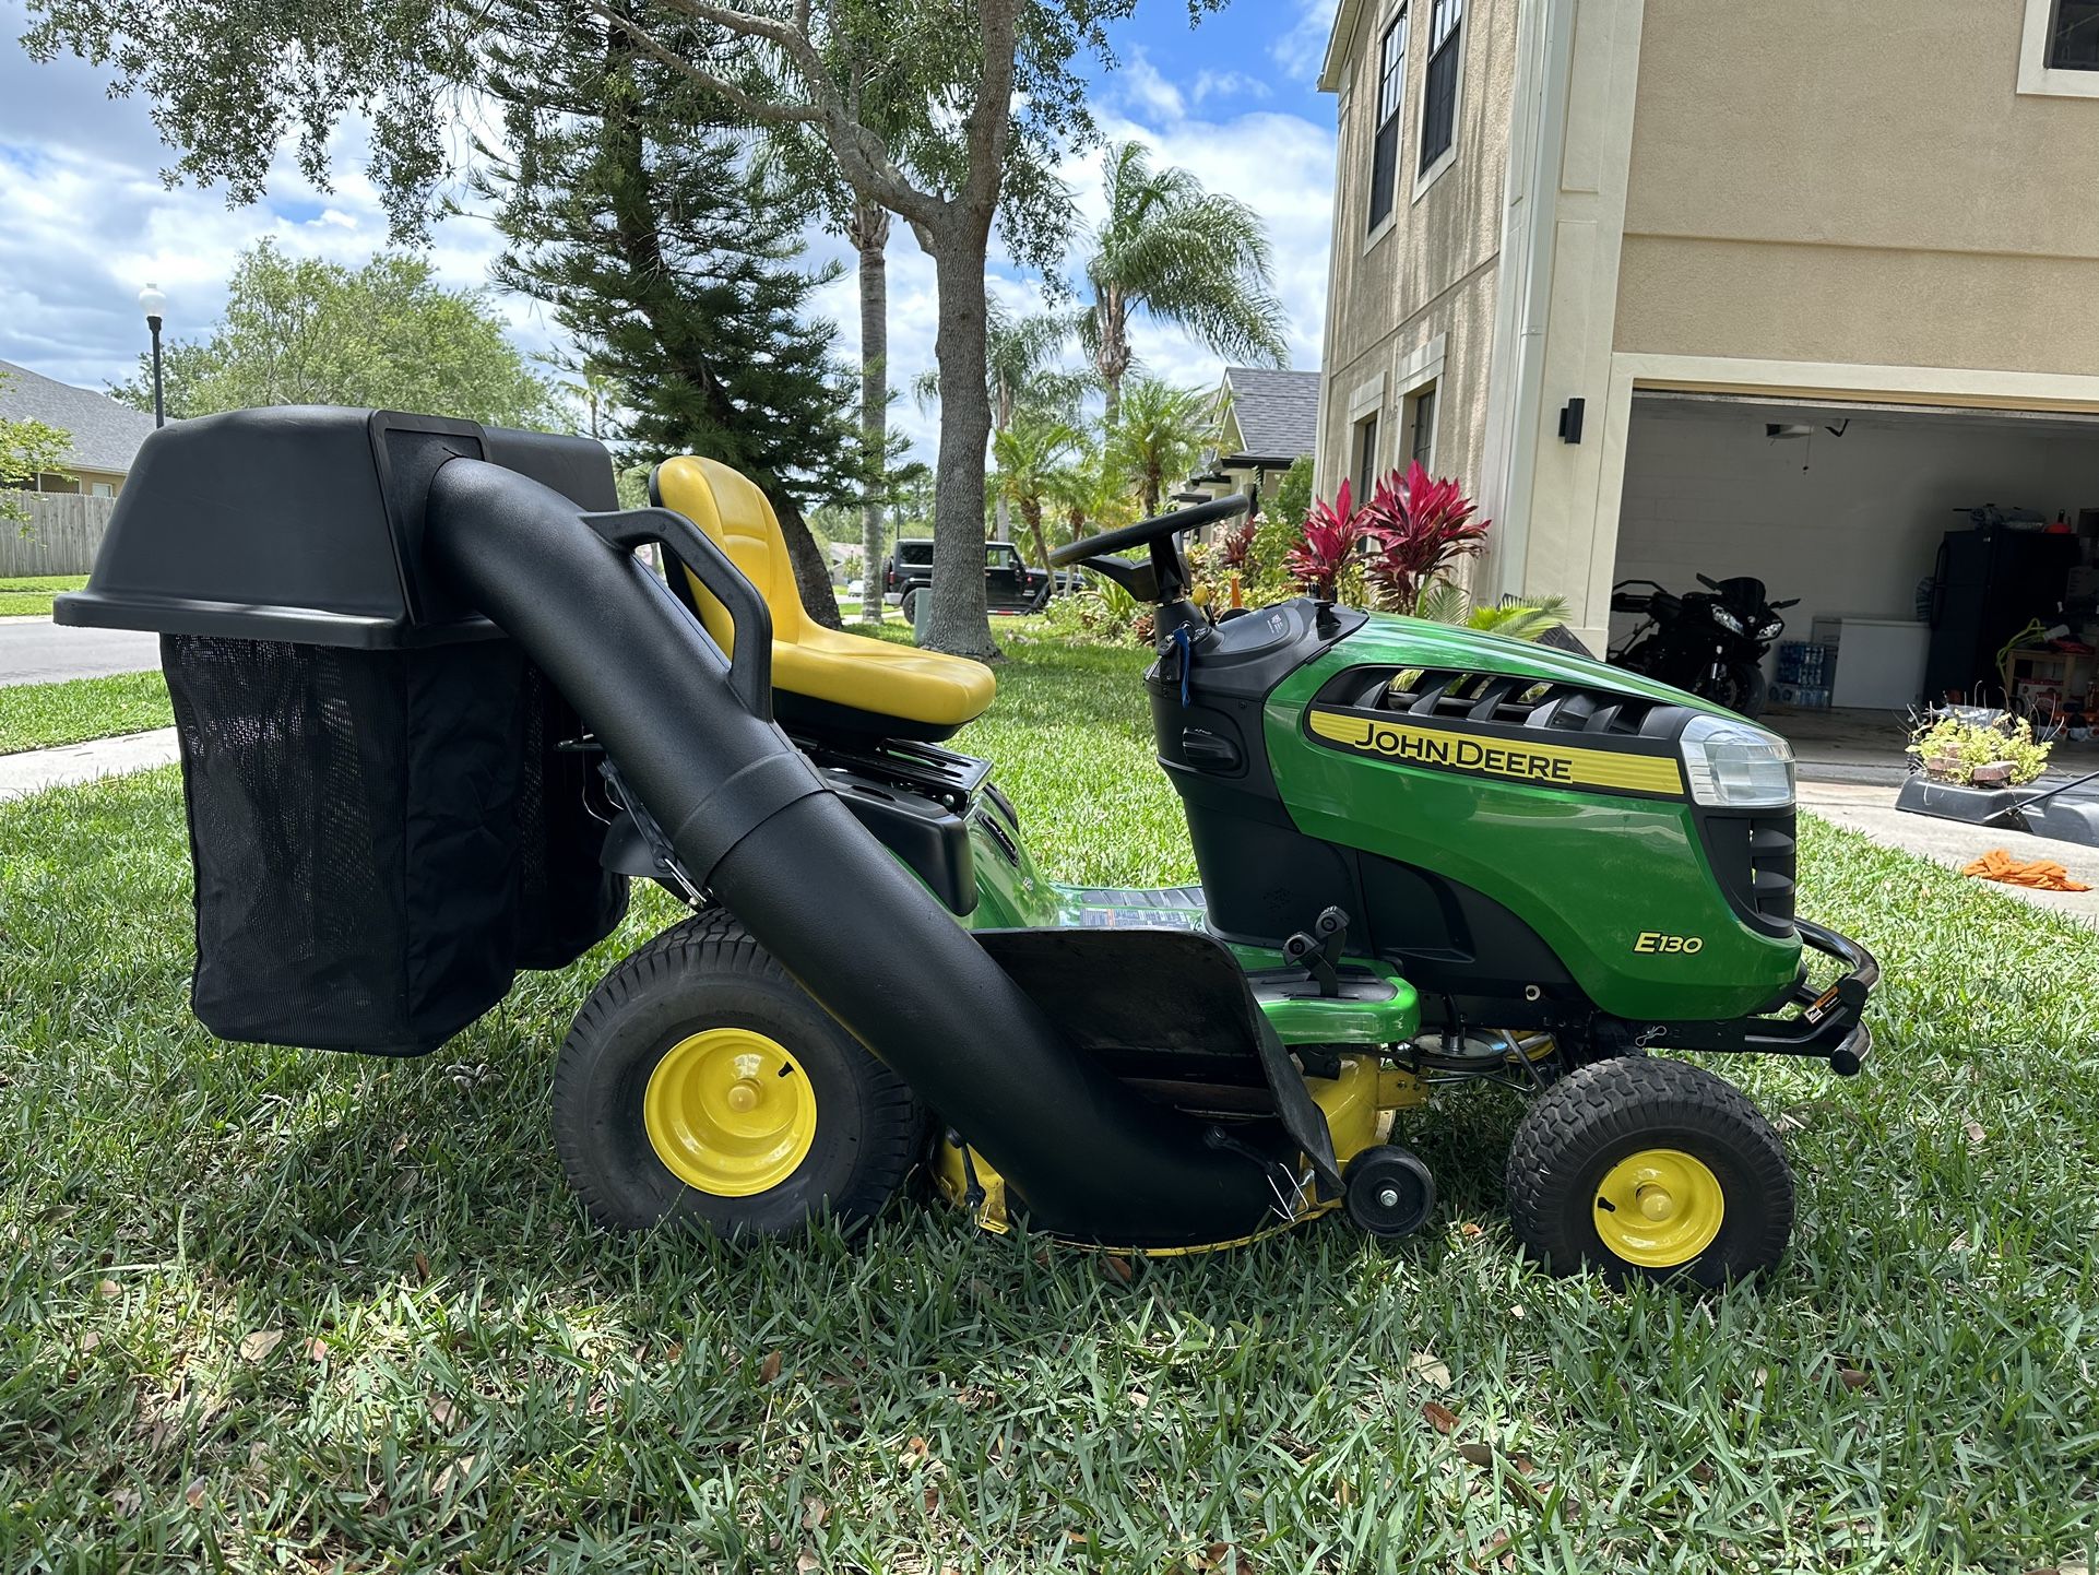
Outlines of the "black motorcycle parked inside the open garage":
[[1763,582],[1748,575],[1698,575],[1698,584],[1704,590],[1681,596],[1652,580],[1612,586],[1610,611],[1637,613],[1639,626],[1608,662],[1755,716],[1763,710],[1763,653],[1786,632],[1780,609],[1799,605],[1799,596],[1765,601]]

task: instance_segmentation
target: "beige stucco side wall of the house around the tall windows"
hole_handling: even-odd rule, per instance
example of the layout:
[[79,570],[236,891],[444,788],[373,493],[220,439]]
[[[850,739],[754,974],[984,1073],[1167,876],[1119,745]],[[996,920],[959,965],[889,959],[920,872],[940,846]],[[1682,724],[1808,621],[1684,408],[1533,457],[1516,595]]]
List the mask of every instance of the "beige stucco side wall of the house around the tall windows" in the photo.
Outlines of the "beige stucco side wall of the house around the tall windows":
[[[1413,0],[1398,197],[1390,229],[1369,246],[1377,46],[1396,6],[1381,0],[1354,6],[1354,25],[1337,40],[1333,57],[1337,69],[1329,86],[1339,97],[1339,168],[1316,454],[1320,496],[1331,496],[1354,468],[1352,435],[1364,414],[1356,397],[1373,382],[1381,380],[1377,464],[1390,468],[1404,454],[1402,399],[1434,370],[1429,357],[1438,338],[1434,466],[1478,487],[1515,76],[1515,0],[1467,4],[1457,158],[1417,195],[1429,8],[1429,0]],[[1415,372],[1402,378],[1406,368]]]

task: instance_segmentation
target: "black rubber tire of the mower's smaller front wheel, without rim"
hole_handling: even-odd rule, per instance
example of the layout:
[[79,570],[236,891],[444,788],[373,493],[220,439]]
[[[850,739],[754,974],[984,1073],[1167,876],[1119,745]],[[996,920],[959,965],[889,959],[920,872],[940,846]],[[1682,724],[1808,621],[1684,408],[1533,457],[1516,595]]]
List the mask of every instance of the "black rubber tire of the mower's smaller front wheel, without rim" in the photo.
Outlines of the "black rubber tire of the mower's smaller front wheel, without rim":
[[[1694,1159],[1723,1208],[1690,1256],[1635,1262],[1599,1231],[1618,1214],[1599,1189],[1627,1174],[1620,1163],[1637,1168],[1633,1155],[1656,1151]],[[1719,1287],[1774,1266],[1793,1235],[1793,1170],[1778,1134],[1734,1084],[1681,1060],[1618,1056],[1562,1077],[1515,1128],[1507,1191],[1515,1239],[1547,1270],[1599,1268],[1618,1285],[1683,1277]]]

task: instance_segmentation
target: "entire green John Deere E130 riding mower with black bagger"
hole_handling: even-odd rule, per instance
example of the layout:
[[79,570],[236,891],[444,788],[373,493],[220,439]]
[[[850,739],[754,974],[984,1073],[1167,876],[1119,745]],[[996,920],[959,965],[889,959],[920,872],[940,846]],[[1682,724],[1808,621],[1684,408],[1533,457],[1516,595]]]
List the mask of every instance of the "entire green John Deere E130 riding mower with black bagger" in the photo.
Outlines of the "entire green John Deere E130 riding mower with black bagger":
[[989,1231],[1396,1237],[1436,1184],[1394,1117],[1486,1082],[1532,1096],[1509,1210],[1553,1270],[1717,1283],[1784,1250],[1772,1128],[1648,1054],[1866,1056],[1879,970],[1795,914],[1778,737],[1539,645],[1213,617],[1178,538],[1234,498],[1054,554],[1154,607],[1203,876],[1060,886],[945,748],[989,668],[814,626],[720,464],[667,462],[655,502],[619,510],[596,443],[426,416],[147,441],[59,622],[164,632],[214,1033],[428,1052],[644,878],[693,914],[554,1075],[611,1226],[850,1224],[924,1166]]

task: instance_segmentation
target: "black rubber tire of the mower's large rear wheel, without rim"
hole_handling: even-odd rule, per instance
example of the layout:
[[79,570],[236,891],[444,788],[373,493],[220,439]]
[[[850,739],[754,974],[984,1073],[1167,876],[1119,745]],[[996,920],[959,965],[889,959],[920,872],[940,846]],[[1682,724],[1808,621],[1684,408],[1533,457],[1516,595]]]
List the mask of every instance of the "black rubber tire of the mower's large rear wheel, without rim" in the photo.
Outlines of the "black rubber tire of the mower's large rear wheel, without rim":
[[[783,1180],[743,1197],[672,1174],[642,1115],[663,1056],[716,1027],[749,1029],[789,1050],[814,1098],[806,1155]],[[678,1222],[791,1237],[821,1214],[850,1231],[882,1212],[924,1140],[926,1113],[911,1088],[724,911],[676,924],[613,968],[575,1014],[554,1069],[560,1166],[590,1218],[619,1231]]]

